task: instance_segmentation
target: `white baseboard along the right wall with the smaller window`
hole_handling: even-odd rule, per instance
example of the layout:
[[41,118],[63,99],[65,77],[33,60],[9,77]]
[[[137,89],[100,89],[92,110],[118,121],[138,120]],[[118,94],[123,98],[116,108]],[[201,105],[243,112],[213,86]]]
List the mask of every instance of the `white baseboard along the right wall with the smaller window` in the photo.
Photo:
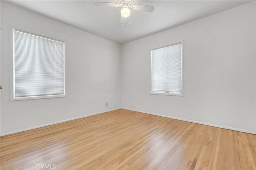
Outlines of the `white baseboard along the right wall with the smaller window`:
[[178,117],[160,115],[160,114],[150,113],[150,112],[147,112],[147,111],[128,109],[128,108],[124,108],[124,107],[122,107],[122,109],[131,110],[131,111],[138,111],[138,112],[141,112],[141,113],[147,113],[147,114],[150,114],[150,115],[156,115],[156,116],[167,117],[167,118],[171,118],[171,119],[188,121],[188,122],[192,122],[192,123],[198,123],[198,124],[201,124],[201,125],[208,125],[208,126],[213,126],[213,127],[219,127],[219,128],[222,128],[222,129],[229,129],[229,130],[233,130],[233,131],[240,131],[240,132],[245,132],[245,133],[256,134],[256,132],[254,132],[254,131],[248,131],[248,130],[244,130],[244,129],[237,129],[237,128],[234,128],[234,127],[226,127],[226,126],[222,126],[222,125],[215,125],[215,124],[211,124],[211,123],[204,123],[204,122],[200,122],[200,121],[193,121],[193,120],[189,120],[189,119],[182,119],[182,118],[178,118]]

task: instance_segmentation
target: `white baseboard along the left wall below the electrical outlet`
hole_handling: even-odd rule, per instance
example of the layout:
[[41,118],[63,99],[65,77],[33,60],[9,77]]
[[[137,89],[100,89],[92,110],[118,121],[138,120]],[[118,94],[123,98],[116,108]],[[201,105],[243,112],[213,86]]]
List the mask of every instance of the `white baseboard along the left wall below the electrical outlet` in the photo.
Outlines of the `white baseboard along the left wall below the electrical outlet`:
[[112,109],[112,110],[106,110],[106,111],[101,111],[101,112],[98,112],[98,113],[92,113],[92,114],[90,114],[90,115],[84,115],[84,116],[80,116],[80,117],[74,117],[74,118],[71,118],[71,119],[66,119],[66,120],[62,120],[62,121],[56,121],[56,122],[53,122],[53,123],[47,123],[47,124],[44,124],[44,125],[34,126],[34,127],[26,128],[26,129],[21,129],[21,130],[18,130],[18,131],[12,131],[12,132],[7,132],[7,133],[1,133],[0,136],[10,135],[10,134],[13,134],[13,133],[19,133],[19,132],[23,132],[23,131],[32,130],[32,129],[37,129],[37,128],[39,128],[39,127],[45,127],[45,126],[54,125],[54,124],[57,124],[57,123],[62,123],[62,122],[65,122],[65,121],[71,121],[71,120],[74,120],[74,119],[80,119],[80,118],[83,118],[83,117],[88,117],[88,116],[92,116],[92,115],[98,115],[98,114],[100,114],[100,113],[105,113],[105,112],[108,112],[108,111],[114,111],[114,110],[118,110],[118,109],[121,109],[121,108]]

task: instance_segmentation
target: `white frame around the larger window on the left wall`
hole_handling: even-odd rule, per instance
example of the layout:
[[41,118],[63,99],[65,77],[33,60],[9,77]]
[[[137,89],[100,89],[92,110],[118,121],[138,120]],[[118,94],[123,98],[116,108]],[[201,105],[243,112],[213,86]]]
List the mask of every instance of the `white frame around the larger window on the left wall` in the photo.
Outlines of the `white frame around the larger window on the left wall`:
[[[38,37],[42,37],[42,38],[46,38],[46,39],[51,39],[54,41],[60,41],[63,42],[63,50],[64,50],[64,54],[63,54],[63,69],[64,69],[64,94],[57,94],[57,95],[45,95],[45,96],[27,96],[27,97],[15,97],[14,96],[14,89],[15,89],[15,82],[14,82],[14,61],[15,61],[15,52],[14,52],[14,31],[20,31],[23,33],[28,33],[30,35],[35,35]],[[63,97],[67,97],[67,78],[66,78],[66,42],[61,40],[60,38],[55,38],[51,35],[52,38],[49,38],[45,35],[43,35],[42,33],[35,33],[33,31],[28,31],[25,29],[17,29],[17,28],[10,28],[10,54],[12,55],[10,57],[10,101],[17,101],[17,100],[34,100],[34,99],[46,99],[46,98],[63,98]]]

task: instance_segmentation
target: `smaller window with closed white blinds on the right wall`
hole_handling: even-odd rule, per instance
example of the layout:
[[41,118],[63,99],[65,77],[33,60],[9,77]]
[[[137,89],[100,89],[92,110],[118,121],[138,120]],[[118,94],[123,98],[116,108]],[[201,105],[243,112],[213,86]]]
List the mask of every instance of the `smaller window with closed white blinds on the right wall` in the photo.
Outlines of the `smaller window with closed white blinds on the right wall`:
[[153,49],[151,94],[184,96],[183,42]]

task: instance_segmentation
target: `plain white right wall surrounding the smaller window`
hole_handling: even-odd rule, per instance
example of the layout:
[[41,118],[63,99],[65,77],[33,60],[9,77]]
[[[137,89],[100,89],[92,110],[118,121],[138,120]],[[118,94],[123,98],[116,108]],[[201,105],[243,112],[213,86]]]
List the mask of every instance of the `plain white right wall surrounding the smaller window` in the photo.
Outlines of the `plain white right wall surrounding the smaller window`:
[[[256,133],[255,20],[250,2],[122,45],[122,108]],[[150,95],[151,49],[181,40],[184,97]]]

